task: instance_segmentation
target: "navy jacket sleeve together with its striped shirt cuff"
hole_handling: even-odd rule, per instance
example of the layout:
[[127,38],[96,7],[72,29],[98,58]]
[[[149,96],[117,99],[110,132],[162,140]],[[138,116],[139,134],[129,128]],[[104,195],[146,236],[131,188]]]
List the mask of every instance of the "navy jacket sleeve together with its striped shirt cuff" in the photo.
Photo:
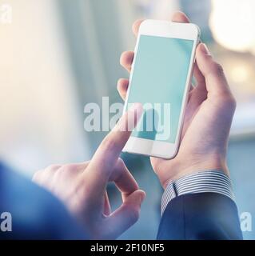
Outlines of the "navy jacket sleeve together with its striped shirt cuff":
[[169,182],[157,239],[242,239],[230,178],[208,170]]

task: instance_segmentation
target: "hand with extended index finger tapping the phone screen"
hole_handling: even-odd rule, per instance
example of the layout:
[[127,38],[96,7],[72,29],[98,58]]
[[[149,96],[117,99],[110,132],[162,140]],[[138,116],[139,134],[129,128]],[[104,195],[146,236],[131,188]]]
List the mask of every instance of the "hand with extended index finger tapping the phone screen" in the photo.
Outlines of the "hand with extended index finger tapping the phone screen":
[[[141,104],[134,104],[106,136],[90,162],[50,166],[34,174],[34,182],[60,198],[91,239],[118,238],[139,217],[145,192],[138,189],[119,154],[141,113]],[[122,206],[113,213],[106,192],[108,182],[115,182],[122,193]]]

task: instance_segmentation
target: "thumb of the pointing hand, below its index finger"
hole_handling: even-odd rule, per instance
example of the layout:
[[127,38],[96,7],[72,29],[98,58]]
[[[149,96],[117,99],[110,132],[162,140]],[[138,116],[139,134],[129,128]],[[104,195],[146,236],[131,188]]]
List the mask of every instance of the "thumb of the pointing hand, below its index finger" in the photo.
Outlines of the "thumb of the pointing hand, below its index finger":
[[108,235],[111,238],[118,238],[118,236],[137,222],[140,215],[141,202],[143,202],[144,199],[145,192],[143,190],[135,190],[125,198],[122,206],[110,215],[107,220],[107,226],[109,226],[107,230],[110,230]]

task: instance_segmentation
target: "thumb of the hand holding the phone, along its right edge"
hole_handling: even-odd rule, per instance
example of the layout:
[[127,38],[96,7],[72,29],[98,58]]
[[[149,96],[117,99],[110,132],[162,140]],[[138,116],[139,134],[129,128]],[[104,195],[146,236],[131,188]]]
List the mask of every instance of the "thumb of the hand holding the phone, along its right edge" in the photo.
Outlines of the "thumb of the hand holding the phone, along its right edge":
[[201,74],[205,77],[206,90],[209,93],[208,96],[231,94],[221,65],[213,60],[212,55],[204,43],[197,46],[196,60]]

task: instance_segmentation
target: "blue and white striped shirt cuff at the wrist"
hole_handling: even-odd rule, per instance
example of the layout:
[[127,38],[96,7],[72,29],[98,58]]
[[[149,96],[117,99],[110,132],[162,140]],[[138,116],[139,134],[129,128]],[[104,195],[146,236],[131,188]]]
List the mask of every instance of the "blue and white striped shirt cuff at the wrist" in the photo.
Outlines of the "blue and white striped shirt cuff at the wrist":
[[224,194],[233,200],[233,190],[230,178],[219,170],[205,170],[189,174],[169,182],[161,199],[161,215],[168,203],[182,194],[213,192]]

